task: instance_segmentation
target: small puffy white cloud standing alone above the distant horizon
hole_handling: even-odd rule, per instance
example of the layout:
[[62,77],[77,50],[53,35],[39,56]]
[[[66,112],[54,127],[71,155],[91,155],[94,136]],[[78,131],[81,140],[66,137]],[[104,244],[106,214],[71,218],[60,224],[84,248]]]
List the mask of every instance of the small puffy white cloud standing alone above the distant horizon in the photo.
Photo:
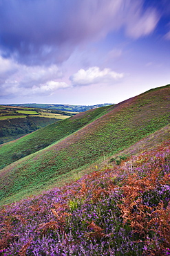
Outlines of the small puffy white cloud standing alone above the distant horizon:
[[80,69],[70,77],[73,86],[85,86],[89,84],[112,84],[123,78],[123,73],[116,73],[109,68],[100,70],[97,66],[88,68],[86,71]]

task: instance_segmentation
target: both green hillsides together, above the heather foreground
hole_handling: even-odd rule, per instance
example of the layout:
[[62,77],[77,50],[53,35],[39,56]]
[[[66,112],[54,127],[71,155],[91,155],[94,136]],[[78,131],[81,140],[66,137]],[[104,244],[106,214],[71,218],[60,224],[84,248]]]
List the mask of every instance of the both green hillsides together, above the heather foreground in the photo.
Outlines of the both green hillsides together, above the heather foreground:
[[[116,154],[169,125],[169,98],[170,86],[163,86],[111,107],[79,113],[57,122],[59,126],[50,125],[50,130],[43,128],[35,131],[35,136],[29,134],[22,140],[20,138],[16,142],[2,145],[1,167],[8,166],[0,172],[0,186],[3,186],[0,200],[6,202],[14,197],[19,199],[34,194],[35,190],[47,189],[62,180],[65,174],[69,175],[74,170],[79,172],[99,158]],[[85,125],[82,125],[83,120]],[[77,125],[80,129],[77,129]],[[59,136],[55,133],[59,133]],[[50,145],[39,150],[39,147],[35,149],[34,142],[36,145]],[[23,143],[25,149],[22,149]],[[18,156],[16,149],[21,154],[29,154],[25,153],[28,149],[36,152],[15,161]]]

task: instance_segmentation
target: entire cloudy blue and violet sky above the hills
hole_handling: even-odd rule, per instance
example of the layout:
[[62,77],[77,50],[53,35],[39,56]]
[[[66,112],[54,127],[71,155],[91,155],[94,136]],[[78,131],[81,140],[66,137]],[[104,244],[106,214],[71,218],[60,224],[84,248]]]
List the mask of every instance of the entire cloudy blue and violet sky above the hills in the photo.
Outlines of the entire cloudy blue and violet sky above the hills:
[[0,0],[0,104],[118,103],[170,84],[170,0]]

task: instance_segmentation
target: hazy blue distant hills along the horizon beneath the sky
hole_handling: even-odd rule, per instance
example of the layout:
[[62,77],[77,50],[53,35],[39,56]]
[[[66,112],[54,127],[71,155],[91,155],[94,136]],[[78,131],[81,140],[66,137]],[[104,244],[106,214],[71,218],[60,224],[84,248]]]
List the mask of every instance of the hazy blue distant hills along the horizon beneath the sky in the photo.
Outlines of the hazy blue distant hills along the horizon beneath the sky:
[[96,107],[105,107],[111,105],[110,103],[96,104],[96,105],[70,105],[70,104],[10,104],[10,106],[18,107],[33,107],[40,109],[56,109],[61,111],[72,111],[72,112],[84,112],[89,109],[95,109]]

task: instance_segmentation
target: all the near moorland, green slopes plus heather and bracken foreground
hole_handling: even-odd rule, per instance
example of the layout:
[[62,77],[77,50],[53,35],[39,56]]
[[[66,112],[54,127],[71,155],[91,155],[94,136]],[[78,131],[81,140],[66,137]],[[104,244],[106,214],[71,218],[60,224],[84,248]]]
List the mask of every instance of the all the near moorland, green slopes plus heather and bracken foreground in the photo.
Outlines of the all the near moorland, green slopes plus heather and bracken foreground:
[[1,255],[169,255],[169,100],[162,86],[2,145],[1,161],[33,152],[1,162]]

